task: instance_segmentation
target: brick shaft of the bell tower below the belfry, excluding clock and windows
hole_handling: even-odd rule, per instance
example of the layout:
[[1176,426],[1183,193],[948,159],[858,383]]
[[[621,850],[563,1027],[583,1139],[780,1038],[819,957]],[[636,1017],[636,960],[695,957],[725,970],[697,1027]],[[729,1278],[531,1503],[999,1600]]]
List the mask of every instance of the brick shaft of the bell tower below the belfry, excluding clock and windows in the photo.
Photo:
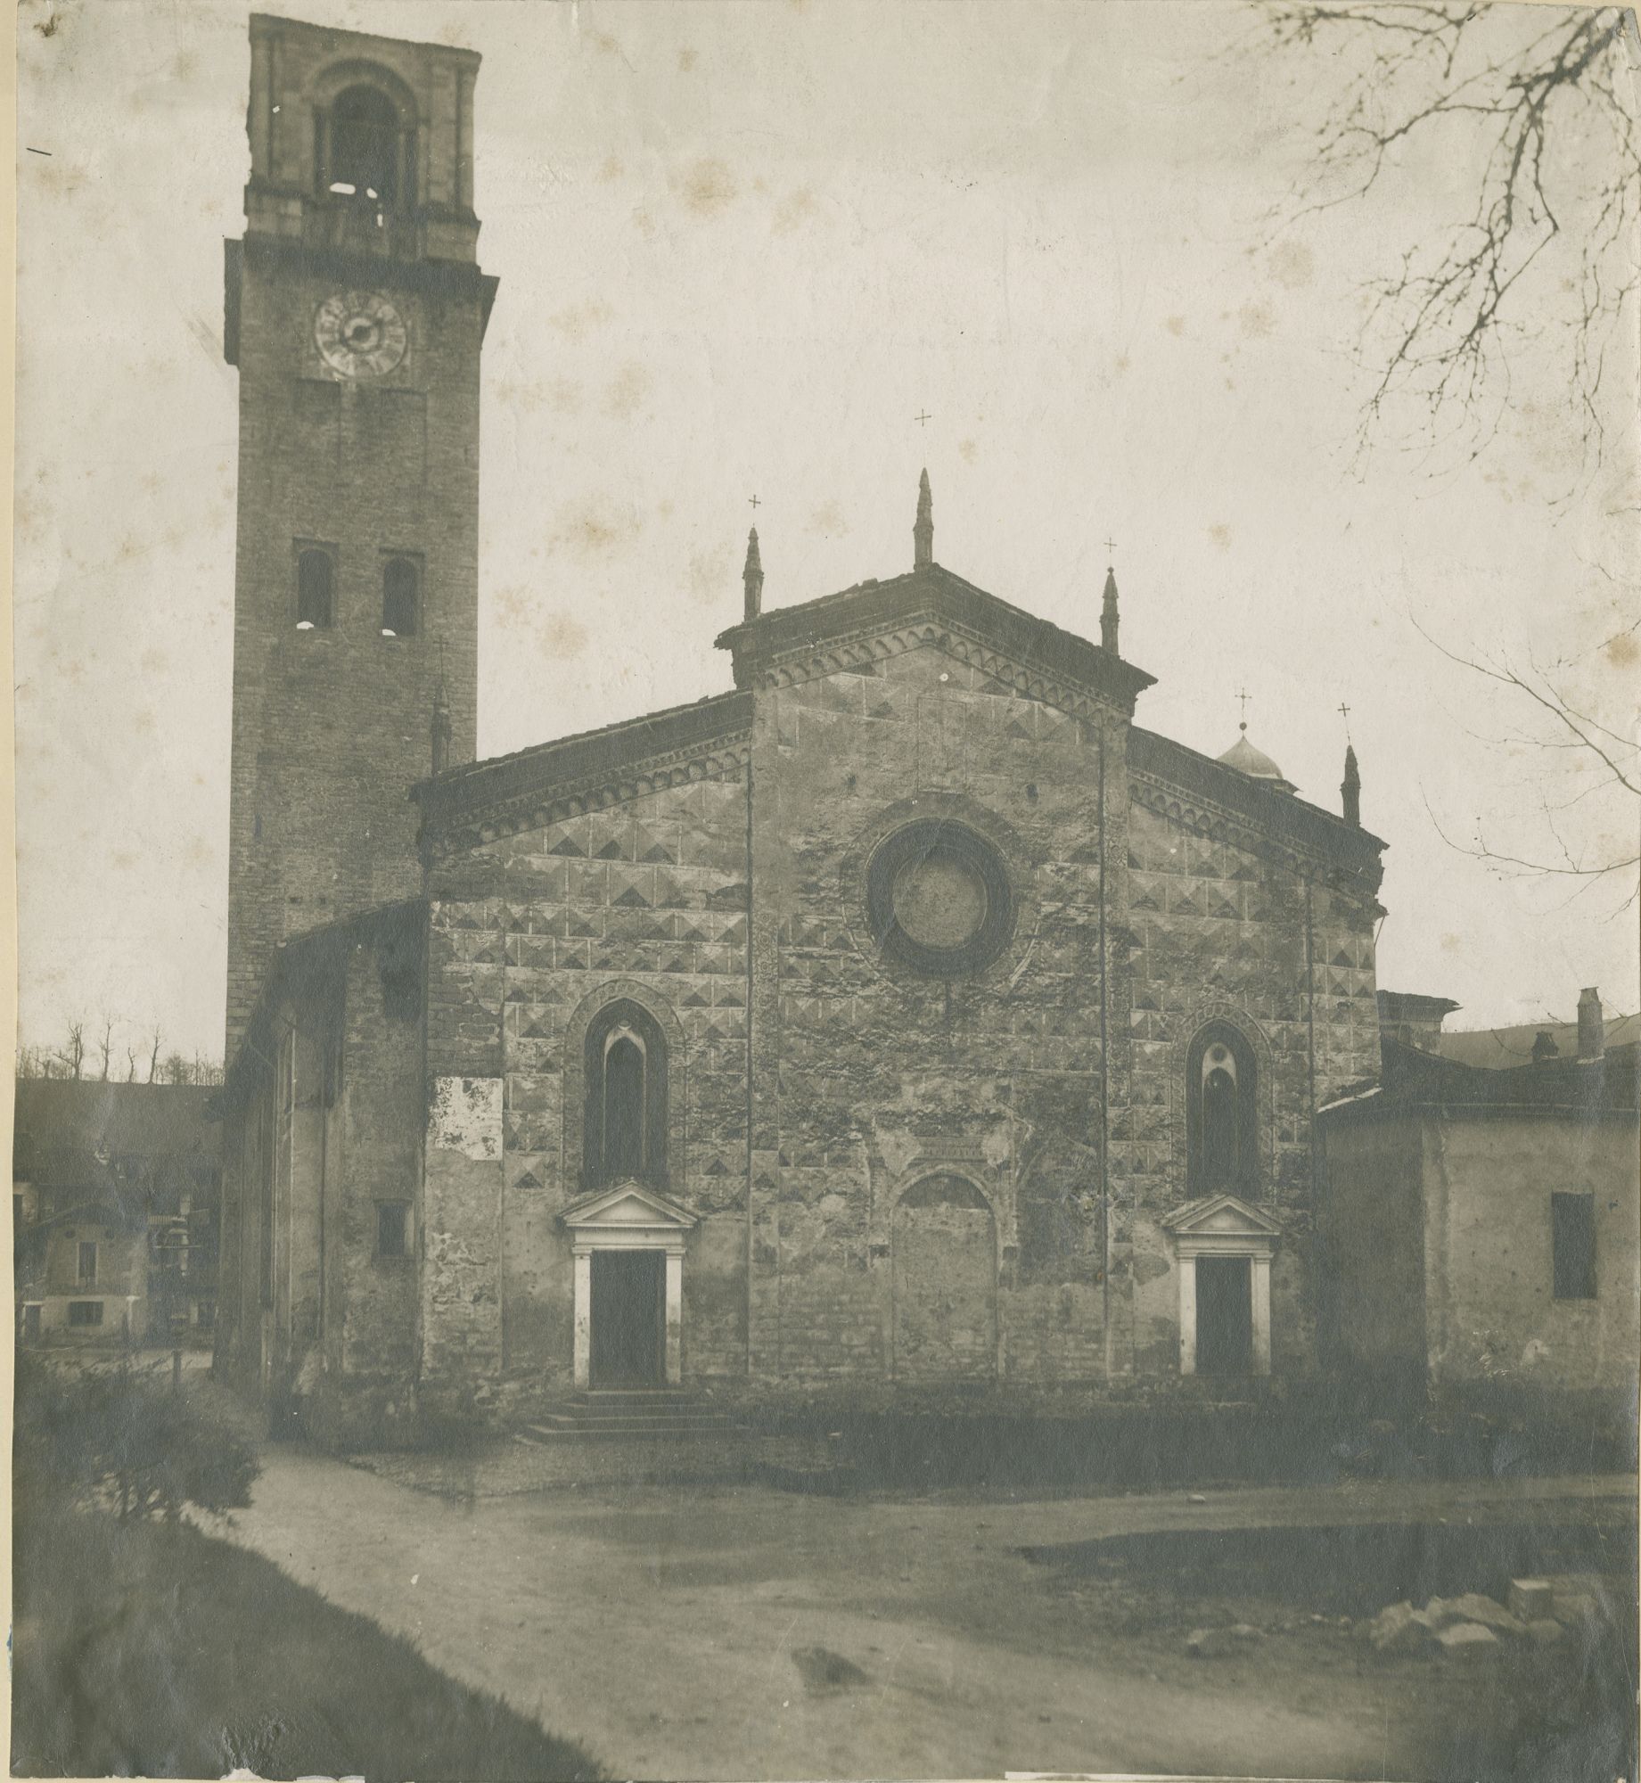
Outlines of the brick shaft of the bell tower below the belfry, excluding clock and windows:
[[[480,300],[400,289],[403,362],[337,382],[312,337],[346,282],[246,253],[228,840],[228,1048],[275,943],[419,890],[408,788],[430,767],[444,640],[451,760],[476,711]],[[335,555],[334,622],[296,629],[301,544]],[[423,565],[419,635],[382,637],[389,553]]]

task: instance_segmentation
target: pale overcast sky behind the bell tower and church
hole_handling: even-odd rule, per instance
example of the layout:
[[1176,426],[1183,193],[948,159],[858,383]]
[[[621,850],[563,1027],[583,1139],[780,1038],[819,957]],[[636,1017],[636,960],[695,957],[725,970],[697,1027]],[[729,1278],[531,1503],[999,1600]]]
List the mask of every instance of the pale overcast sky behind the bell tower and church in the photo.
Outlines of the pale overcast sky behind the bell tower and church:
[[[1250,738],[1338,809],[1348,704],[1389,843],[1382,986],[1459,1000],[1459,1027],[1568,1018],[1584,984],[1636,1006],[1621,893],[1502,879],[1438,834],[1546,845],[1566,763],[1502,745],[1523,715],[1409,617],[1566,660],[1630,731],[1634,653],[1604,649],[1636,617],[1629,348],[1618,444],[1582,474],[1530,342],[1473,465],[1352,465],[1363,283],[1466,210],[1479,139],[1270,242],[1338,75],[1238,59],[1236,7],[296,14],[485,59],[480,754],[724,688],[749,497],[779,606],[908,569],[928,464],[936,558],[1060,626],[1099,635],[1117,540],[1124,654],[1158,676],[1138,722],[1218,754],[1247,688]],[[20,64],[23,1036],[111,1013],[216,1054],[246,12],[25,0]],[[1561,822],[1634,843],[1600,795]]]

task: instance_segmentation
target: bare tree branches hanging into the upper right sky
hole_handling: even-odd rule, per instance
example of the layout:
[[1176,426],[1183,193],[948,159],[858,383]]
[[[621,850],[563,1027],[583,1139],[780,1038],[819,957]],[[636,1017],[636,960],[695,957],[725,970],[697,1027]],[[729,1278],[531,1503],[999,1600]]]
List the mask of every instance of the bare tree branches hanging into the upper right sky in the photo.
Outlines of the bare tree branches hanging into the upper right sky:
[[1607,355],[1641,273],[1634,14],[1268,0],[1249,46],[1300,57],[1295,78],[1338,89],[1279,225],[1365,198],[1413,146],[1468,144],[1479,169],[1468,214],[1368,285],[1357,455],[1411,405],[1414,437],[1457,435],[1475,458],[1514,351],[1532,346],[1559,357],[1600,460]]

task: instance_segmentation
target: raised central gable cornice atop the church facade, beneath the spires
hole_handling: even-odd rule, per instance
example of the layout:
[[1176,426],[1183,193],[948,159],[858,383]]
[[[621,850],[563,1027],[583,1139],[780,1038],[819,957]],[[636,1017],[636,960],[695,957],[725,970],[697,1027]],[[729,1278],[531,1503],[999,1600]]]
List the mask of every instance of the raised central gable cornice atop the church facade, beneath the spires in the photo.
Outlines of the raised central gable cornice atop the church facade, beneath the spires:
[[797,606],[778,606],[717,638],[735,660],[735,685],[753,686],[771,669],[829,645],[901,631],[919,620],[969,633],[1024,669],[1072,683],[1133,713],[1156,676],[1072,631],[1061,631],[985,588],[926,563],[890,581],[862,581]]

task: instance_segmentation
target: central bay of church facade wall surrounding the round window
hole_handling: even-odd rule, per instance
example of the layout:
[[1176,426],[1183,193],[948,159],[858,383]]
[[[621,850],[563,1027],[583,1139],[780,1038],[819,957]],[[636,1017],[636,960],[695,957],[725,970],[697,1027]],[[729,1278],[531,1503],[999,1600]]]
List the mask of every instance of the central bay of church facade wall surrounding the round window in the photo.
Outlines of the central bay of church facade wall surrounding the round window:
[[[1101,1371],[1102,740],[1120,786],[1120,722],[1017,697],[933,644],[758,692],[756,1373]],[[874,845],[924,817],[1010,865],[1015,933],[974,979],[883,959],[865,924]],[[969,1205],[897,1212],[931,1177],[969,1184]],[[970,1294],[986,1245],[994,1307]]]

